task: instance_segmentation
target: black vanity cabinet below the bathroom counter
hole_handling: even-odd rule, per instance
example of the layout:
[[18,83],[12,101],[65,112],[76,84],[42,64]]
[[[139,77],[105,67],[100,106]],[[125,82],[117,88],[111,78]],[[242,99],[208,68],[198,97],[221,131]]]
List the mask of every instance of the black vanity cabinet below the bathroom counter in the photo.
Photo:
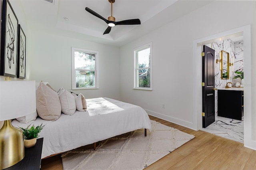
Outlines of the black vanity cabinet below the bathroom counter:
[[218,90],[218,116],[242,121],[244,91]]

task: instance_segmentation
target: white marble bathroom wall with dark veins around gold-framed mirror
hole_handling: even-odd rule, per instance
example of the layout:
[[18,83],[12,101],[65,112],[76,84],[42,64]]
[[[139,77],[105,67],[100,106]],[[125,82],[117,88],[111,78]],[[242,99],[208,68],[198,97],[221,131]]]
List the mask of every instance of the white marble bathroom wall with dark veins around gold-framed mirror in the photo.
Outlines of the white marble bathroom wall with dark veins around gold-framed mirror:
[[[244,70],[244,42],[238,41],[233,42],[232,40],[222,40],[220,42],[214,42],[211,44],[212,49],[215,50],[215,61],[220,59],[220,51],[224,50],[229,53],[229,61],[232,62],[232,57],[234,57],[234,71]],[[215,63],[215,88],[224,89],[226,83],[231,82],[232,86],[235,85],[237,81],[241,83],[241,79],[234,79],[236,73],[232,72],[232,66],[229,68],[229,79],[221,79],[220,64]],[[215,115],[218,115],[218,92],[215,91]]]

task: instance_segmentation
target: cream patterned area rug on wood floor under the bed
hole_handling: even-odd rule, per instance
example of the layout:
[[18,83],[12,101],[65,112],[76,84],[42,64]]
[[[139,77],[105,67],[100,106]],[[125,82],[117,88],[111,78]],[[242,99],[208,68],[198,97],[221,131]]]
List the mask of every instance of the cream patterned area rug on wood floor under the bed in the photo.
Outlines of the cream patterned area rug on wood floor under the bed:
[[135,130],[100,142],[96,150],[83,147],[64,152],[64,170],[142,170],[195,136],[151,120],[152,130]]

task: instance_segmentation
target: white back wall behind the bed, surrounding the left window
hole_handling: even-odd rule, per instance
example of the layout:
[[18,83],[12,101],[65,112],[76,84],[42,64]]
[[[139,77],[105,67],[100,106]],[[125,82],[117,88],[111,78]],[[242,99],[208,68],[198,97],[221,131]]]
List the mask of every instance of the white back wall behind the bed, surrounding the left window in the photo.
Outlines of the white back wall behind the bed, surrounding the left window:
[[86,98],[120,99],[119,47],[43,32],[31,32],[31,79],[71,91],[71,47],[99,51],[99,89],[72,90]]

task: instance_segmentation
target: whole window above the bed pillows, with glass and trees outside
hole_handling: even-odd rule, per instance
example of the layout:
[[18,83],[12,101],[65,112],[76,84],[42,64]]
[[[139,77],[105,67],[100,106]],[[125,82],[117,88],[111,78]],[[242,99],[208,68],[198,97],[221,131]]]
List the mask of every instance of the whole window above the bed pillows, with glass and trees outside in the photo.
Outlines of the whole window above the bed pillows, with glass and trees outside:
[[98,51],[72,47],[72,89],[98,88]]

